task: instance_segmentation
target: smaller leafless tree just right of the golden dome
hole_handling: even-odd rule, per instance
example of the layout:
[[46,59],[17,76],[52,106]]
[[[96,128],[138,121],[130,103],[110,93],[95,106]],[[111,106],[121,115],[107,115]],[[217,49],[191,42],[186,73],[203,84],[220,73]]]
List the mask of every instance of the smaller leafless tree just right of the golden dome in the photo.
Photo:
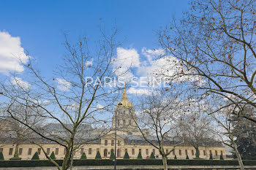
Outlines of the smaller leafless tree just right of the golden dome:
[[[181,138],[174,134],[180,110],[177,104],[178,93],[167,93],[165,89],[151,90],[150,94],[140,97],[138,104],[140,118],[139,122],[135,121],[135,123],[146,142],[159,150],[165,170],[167,170],[167,155],[183,143]],[[149,134],[145,129],[149,130]],[[152,142],[152,137],[157,139],[157,142]],[[165,145],[170,143],[173,144],[173,149],[167,151]]]

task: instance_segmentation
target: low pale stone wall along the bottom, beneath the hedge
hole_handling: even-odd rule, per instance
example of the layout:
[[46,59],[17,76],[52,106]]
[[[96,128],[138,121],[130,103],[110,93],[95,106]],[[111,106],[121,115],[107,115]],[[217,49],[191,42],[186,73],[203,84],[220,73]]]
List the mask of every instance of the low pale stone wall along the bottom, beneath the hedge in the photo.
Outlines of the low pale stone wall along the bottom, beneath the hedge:
[[[248,170],[256,170],[256,166],[245,166]],[[56,167],[21,167],[21,168],[0,168],[0,170],[56,170]],[[113,166],[74,166],[72,170],[113,170]],[[168,170],[237,170],[238,166],[169,166]],[[162,166],[116,166],[116,170],[162,170]]]

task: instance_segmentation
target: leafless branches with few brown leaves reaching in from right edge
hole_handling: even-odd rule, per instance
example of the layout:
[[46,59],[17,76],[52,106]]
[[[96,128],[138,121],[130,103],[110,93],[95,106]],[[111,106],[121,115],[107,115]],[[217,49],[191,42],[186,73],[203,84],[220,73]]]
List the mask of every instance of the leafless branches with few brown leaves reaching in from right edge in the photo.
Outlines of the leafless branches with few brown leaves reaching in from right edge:
[[159,31],[160,44],[183,67],[176,76],[201,77],[203,83],[187,80],[199,98],[231,101],[213,112],[233,105],[239,110],[234,115],[256,122],[243,112],[247,104],[256,107],[256,1],[197,0],[189,5],[180,22],[173,20]]

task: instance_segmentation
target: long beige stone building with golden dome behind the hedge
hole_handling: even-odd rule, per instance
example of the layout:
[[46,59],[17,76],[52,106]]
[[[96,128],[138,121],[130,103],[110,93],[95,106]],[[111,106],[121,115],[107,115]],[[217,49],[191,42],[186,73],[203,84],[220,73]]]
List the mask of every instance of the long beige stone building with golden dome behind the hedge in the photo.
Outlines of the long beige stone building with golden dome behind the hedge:
[[[135,109],[132,103],[127,98],[127,92],[124,89],[121,101],[116,104],[115,113],[112,118],[112,130],[102,136],[100,139],[94,140],[92,142],[81,145],[80,149],[75,152],[75,158],[80,158],[83,152],[86,153],[87,158],[94,159],[97,151],[100,152],[102,159],[110,158],[110,152],[114,151],[115,148],[115,133],[116,133],[116,154],[117,158],[123,158],[124,153],[128,152],[129,158],[137,158],[138,153],[141,152],[143,158],[149,158],[151,152],[154,152],[158,158],[160,158],[159,150],[154,148],[151,144],[143,139],[139,129],[136,126],[137,117],[135,115]],[[144,134],[148,134],[148,129],[143,130]],[[150,137],[151,142],[157,144],[157,139],[154,136]],[[15,152],[15,144],[10,142],[0,143],[0,152],[3,152],[5,160],[13,157]],[[57,159],[64,158],[65,150],[64,147],[56,143],[51,143],[50,141],[41,140],[42,147],[50,155],[54,152]],[[165,150],[172,150],[173,145],[176,142],[165,141]],[[212,153],[214,158],[219,158],[223,155],[225,158],[225,147],[221,143],[215,142],[211,145],[199,147],[200,158],[209,158],[210,153]],[[23,160],[31,159],[34,152],[38,152],[40,159],[45,159],[45,155],[42,150],[36,145],[29,142],[23,142],[18,146],[19,157]],[[195,158],[195,148],[188,146],[186,144],[181,144],[176,147],[176,149],[167,156],[167,158],[185,159],[187,155],[189,158]]]

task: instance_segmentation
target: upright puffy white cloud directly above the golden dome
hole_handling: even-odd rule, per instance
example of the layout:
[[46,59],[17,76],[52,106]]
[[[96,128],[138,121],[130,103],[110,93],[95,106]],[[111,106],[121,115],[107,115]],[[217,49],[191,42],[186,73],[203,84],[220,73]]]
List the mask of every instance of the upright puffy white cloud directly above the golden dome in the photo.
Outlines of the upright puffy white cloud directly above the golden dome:
[[124,49],[118,47],[116,49],[117,58],[114,59],[114,72],[116,76],[122,80],[129,81],[134,76],[130,69],[140,66],[140,55],[137,50]]

